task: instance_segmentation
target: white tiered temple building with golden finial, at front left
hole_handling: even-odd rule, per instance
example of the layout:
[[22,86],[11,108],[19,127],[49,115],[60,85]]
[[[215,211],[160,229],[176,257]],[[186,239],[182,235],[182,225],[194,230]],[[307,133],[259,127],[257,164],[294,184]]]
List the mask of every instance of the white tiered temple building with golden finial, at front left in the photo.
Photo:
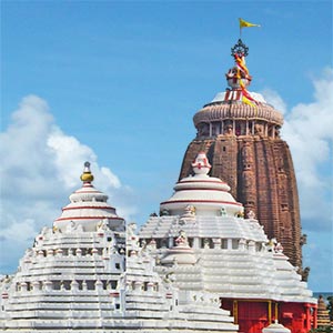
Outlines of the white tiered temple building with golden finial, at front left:
[[1,332],[238,332],[215,294],[180,291],[158,274],[133,224],[92,186],[88,163],[81,180],[70,209],[1,281]]

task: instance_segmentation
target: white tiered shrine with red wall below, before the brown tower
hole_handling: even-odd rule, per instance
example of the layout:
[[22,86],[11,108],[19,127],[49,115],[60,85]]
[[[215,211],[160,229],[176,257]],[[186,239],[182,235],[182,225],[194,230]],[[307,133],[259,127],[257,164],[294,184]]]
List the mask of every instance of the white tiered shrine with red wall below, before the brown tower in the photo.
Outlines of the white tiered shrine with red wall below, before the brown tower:
[[[175,193],[161,203],[161,215],[150,216],[139,233],[141,242],[153,244],[158,272],[172,273],[179,290],[218,294],[222,307],[235,316],[234,301],[248,302],[253,309],[255,302],[261,304],[258,306],[269,302],[279,304],[274,306],[280,310],[266,314],[268,325],[274,319],[291,326],[285,320],[290,312],[310,320],[310,312],[305,315],[303,310],[305,304],[315,309],[316,300],[283,254],[279,240],[268,239],[254,212],[244,219],[242,206],[234,209],[230,188],[208,175],[210,163],[204,153],[199,153],[192,168],[194,175],[178,182]],[[260,332],[240,324],[241,331]],[[302,326],[299,332],[306,330]]]

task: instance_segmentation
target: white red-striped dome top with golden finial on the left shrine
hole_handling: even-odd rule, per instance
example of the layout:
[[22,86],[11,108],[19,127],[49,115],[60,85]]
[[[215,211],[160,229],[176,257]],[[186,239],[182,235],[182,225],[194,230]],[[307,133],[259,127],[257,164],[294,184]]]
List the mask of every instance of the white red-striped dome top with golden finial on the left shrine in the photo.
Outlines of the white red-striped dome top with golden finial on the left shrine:
[[62,209],[62,214],[53,222],[53,226],[64,231],[70,224],[75,224],[84,231],[95,231],[101,221],[108,221],[110,226],[121,225],[123,219],[108,204],[108,195],[92,185],[93,175],[89,162],[84,163],[81,180],[82,188],[69,196],[70,203]]

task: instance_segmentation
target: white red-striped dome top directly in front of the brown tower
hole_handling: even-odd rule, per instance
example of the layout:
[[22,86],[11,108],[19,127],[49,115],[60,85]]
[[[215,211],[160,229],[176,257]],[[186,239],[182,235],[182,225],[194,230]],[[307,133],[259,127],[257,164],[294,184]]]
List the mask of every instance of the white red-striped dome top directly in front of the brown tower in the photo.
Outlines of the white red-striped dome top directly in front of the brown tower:
[[219,178],[208,175],[211,165],[204,152],[200,152],[192,163],[194,175],[183,178],[174,189],[173,195],[160,204],[162,213],[182,215],[189,205],[198,215],[242,214],[243,206],[229,193],[230,186]]

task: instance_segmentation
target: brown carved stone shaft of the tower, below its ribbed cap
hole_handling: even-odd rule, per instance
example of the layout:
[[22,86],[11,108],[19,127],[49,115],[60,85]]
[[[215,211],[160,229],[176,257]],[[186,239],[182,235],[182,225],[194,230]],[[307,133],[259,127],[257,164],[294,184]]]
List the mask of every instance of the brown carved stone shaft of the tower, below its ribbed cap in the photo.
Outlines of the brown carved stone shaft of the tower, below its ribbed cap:
[[279,239],[291,263],[301,268],[299,194],[287,143],[251,134],[196,138],[186,149],[180,179],[202,150],[212,164],[210,174],[231,186],[245,213],[253,211],[269,238]]

